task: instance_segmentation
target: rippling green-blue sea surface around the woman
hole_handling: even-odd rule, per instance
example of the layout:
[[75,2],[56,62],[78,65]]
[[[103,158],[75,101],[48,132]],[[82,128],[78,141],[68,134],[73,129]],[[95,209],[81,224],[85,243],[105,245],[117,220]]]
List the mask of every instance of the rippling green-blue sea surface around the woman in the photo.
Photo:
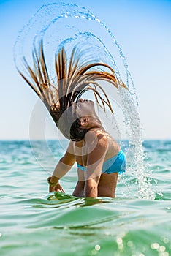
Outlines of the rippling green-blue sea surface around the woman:
[[171,255],[171,141],[143,146],[155,199],[140,198],[130,170],[115,199],[85,199],[71,196],[76,167],[61,181],[66,194],[48,193],[65,141],[1,141],[0,255]]

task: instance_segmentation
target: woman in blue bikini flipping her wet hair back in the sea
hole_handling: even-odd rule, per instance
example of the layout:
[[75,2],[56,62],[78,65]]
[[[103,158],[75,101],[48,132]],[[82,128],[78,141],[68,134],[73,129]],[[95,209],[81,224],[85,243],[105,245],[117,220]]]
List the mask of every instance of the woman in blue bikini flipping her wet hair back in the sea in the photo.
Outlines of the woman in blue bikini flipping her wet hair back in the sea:
[[113,112],[99,81],[113,83],[116,88],[121,86],[126,89],[126,86],[118,81],[114,70],[107,64],[92,60],[81,62],[82,54],[74,48],[67,59],[64,48],[59,50],[55,63],[56,83],[52,83],[41,42],[39,51],[33,52],[34,69],[24,59],[31,80],[19,72],[45,103],[58,129],[70,140],[64,157],[53,171],[53,176],[47,178],[50,192],[64,192],[58,181],[77,162],[77,185],[73,195],[115,197],[118,173],[126,170],[125,155],[102,127],[94,109],[94,102],[81,99],[81,96],[85,91],[93,91],[96,103],[104,110],[107,105]]

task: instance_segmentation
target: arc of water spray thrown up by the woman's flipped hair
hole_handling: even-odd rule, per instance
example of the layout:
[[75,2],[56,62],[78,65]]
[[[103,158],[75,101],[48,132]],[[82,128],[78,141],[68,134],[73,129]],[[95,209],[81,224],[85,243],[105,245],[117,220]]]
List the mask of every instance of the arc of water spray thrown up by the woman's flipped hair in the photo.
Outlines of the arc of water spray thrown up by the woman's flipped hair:
[[[107,89],[115,110],[115,127],[120,128],[119,137],[121,133],[121,138],[125,137],[129,140],[129,146],[126,148],[128,169],[137,178],[139,197],[154,199],[151,180],[148,178],[151,173],[147,172],[144,164],[145,154],[142,147],[134,82],[126,58],[113,33],[85,7],[65,3],[43,5],[20,31],[15,42],[14,61],[21,72],[23,56],[26,56],[28,63],[31,63],[31,49],[33,45],[37,46],[42,38],[46,62],[50,67],[52,78],[55,77],[54,57],[56,51],[65,46],[66,53],[69,53],[75,45],[78,45],[88,58],[104,61],[113,67],[118,79],[123,80],[123,83],[126,84],[128,90],[115,91],[112,89],[112,95],[111,88]],[[117,116],[117,113],[120,114]],[[112,119],[110,118],[110,120]]]

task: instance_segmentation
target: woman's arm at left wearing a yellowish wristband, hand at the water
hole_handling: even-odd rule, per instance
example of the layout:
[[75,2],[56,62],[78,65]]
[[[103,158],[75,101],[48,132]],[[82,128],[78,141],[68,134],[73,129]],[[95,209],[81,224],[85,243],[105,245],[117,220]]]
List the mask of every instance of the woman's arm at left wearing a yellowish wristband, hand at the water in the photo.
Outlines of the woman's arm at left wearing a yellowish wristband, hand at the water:
[[72,165],[75,163],[75,155],[73,150],[73,142],[69,143],[68,148],[66,149],[66,153],[64,157],[62,157],[58,164],[56,165],[55,170],[53,171],[53,175],[48,179],[48,183],[50,185],[50,192],[53,191],[61,191],[64,192],[61,185],[58,183],[58,180],[68,173],[71,169]]

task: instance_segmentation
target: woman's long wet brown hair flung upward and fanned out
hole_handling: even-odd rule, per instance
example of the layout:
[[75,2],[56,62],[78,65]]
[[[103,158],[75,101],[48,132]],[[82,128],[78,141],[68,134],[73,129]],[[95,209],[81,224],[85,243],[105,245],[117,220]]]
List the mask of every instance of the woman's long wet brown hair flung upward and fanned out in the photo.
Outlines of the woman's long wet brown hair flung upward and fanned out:
[[[35,47],[32,50],[33,68],[23,57],[28,75],[18,69],[20,75],[45,103],[58,129],[69,140],[81,140],[87,132],[80,127],[80,117],[77,117],[76,109],[72,108],[73,102],[77,102],[86,91],[93,91],[96,103],[104,111],[107,106],[113,113],[110,100],[99,82],[104,80],[117,89],[119,86],[126,88],[121,80],[118,81],[114,70],[108,64],[87,59],[83,61],[83,54],[83,51],[75,47],[68,58],[64,47],[58,50],[55,56],[54,80],[50,78],[41,41],[38,50]],[[97,67],[101,69],[97,70]],[[102,71],[102,68],[108,71]]]

